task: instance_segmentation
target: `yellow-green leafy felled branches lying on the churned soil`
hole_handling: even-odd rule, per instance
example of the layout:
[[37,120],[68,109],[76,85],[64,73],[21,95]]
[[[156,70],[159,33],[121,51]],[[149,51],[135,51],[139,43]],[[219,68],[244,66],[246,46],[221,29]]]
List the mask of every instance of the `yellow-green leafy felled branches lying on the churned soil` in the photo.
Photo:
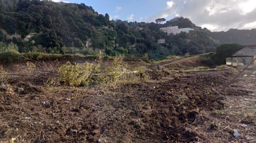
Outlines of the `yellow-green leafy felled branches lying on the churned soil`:
[[[123,57],[116,56],[111,63],[102,63],[101,52],[98,54],[95,63],[71,64],[67,62],[57,69],[57,77],[51,77],[46,85],[48,86],[89,86],[100,87],[116,85],[119,83],[138,82],[149,78],[145,68],[127,70],[123,65]],[[108,61],[106,61],[108,62]]]

